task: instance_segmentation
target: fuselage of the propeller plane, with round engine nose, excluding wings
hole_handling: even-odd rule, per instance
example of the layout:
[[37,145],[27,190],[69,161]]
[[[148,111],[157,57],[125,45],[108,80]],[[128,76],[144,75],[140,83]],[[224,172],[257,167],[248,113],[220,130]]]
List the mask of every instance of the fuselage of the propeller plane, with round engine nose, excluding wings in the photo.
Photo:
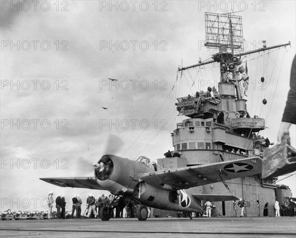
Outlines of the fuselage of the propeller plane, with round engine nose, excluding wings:
[[105,155],[98,161],[102,166],[95,170],[95,177],[98,184],[112,194],[124,194],[125,197],[133,198],[149,207],[175,211],[202,211],[200,200],[186,193],[186,190],[172,190],[165,185],[160,189],[141,181],[141,174],[155,172],[149,167],[148,162],[145,162],[147,161]]

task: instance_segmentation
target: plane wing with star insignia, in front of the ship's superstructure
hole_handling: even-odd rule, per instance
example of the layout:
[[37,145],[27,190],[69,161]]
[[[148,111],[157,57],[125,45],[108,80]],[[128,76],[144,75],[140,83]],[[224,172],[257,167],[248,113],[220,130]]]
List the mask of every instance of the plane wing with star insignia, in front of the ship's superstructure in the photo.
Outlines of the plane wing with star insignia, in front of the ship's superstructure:
[[139,180],[157,188],[180,190],[261,172],[262,159],[253,156],[208,165],[143,173],[139,176]]

